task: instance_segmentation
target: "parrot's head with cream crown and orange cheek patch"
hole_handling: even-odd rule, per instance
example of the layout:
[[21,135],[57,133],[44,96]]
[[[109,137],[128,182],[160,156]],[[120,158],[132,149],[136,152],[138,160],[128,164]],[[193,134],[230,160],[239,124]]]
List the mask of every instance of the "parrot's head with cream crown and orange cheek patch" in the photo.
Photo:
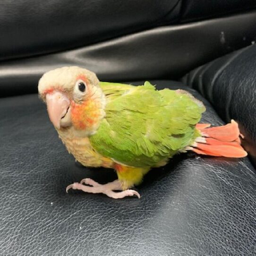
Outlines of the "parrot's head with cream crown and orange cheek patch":
[[85,68],[63,67],[46,72],[39,80],[38,92],[57,130],[73,127],[90,135],[105,115],[106,100],[99,80]]

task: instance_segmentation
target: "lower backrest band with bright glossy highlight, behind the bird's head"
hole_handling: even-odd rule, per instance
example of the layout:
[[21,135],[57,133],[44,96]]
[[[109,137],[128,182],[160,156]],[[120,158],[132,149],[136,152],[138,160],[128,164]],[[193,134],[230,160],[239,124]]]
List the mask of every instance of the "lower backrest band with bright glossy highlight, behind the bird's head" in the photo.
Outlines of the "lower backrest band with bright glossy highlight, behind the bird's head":
[[50,69],[78,65],[105,81],[179,78],[209,60],[251,44],[256,12],[162,26],[72,51],[0,63],[0,95],[35,93]]

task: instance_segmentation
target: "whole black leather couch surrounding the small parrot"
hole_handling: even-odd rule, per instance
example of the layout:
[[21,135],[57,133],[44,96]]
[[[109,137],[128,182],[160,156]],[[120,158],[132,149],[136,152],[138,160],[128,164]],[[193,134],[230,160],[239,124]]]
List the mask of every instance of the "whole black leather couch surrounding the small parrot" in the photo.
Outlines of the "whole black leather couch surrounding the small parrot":
[[[2,0],[0,35],[0,255],[256,254],[254,0]],[[75,163],[38,99],[65,65],[188,90],[203,122],[239,122],[249,156],[180,154],[141,199],[66,194],[115,173]]]

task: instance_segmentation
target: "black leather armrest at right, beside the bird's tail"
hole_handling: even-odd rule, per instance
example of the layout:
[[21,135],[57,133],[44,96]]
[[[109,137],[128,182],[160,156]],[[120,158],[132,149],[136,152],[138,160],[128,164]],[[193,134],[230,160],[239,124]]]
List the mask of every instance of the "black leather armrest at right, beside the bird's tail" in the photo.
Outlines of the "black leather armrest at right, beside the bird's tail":
[[256,45],[235,51],[191,71],[183,82],[199,91],[220,117],[235,119],[256,166]]

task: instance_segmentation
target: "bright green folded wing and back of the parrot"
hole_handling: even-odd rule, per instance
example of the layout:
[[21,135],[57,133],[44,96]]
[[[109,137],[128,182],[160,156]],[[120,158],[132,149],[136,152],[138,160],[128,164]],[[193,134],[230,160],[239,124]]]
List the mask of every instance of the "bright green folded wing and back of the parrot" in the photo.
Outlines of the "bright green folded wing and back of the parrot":
[[154,166],[195,137],[205,108],[191,94],[157,91],[149,82],[100,85],[107,97],[106,117],[90,142],[103,156],[128,166]]

